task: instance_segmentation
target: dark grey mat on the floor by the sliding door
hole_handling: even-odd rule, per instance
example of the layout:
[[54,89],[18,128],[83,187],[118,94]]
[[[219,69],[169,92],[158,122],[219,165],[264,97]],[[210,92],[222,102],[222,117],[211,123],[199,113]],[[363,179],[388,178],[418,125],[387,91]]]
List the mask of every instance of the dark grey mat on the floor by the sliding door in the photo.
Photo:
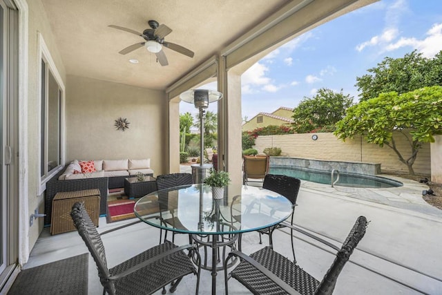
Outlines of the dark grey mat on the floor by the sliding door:
[[88,257],[85,253],[23,269],[8,295],[88,294]]

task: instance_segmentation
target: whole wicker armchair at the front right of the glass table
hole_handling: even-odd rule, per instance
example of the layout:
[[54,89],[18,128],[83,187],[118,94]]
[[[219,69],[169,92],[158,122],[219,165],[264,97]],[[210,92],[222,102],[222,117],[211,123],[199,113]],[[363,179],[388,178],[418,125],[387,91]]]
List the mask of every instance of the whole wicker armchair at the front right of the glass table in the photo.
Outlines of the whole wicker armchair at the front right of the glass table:
[[[291,225],[287,226],[294,227]],[[227,274],[227,269],[224,268],[226,294],[229,294],[229,278],[236,278],[253,294],[332,294],[340,272],[349,260],[358,242],[363,238],[366,227],[367,219],[364,216],[360,216],[340,249],[316,237],[316,240],[324,242],[334,249],[338,249],[332,266],[329,267],[323,280],[320,282],[296,263],[274,251],[269,246],[256,251],[250,256],[240,251],[233,251],[224,260],[224,265],[227,265],[233,257],[239,257],[241,263],[230,274]],[[296,227],[294,229],[297,230]]]

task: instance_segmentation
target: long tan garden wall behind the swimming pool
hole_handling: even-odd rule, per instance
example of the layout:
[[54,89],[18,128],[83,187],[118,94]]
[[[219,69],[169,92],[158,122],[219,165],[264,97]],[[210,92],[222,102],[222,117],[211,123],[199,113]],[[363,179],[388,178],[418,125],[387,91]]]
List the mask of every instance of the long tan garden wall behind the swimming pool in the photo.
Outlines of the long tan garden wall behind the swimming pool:
[[[282,155],[295,158],[317,160],[337,160],[349,162],[380,163],[382,171],[408,173],[407,166],[398,160],[398,156],[387,146],[383,148],[376,144],[367,144],[361,137],[342,142],[332,133],[317,133],[318,140],[312,140],[309,133],[289,135],[258,136],[254,146],[259,153],[267,147],[279,147]],[[410,155],[407,140],[401,134],[395,134],[394,139],[398,150],[404,158]],[[430,144],[423,144],[413,165],[415,173],[430,175]]]

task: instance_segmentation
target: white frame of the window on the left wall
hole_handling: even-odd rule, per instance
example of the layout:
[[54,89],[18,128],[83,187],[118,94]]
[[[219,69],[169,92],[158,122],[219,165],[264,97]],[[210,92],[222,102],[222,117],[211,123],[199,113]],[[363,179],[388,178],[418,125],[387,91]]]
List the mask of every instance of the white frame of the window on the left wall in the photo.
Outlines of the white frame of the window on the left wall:
[[[48,46],[46,46],[46,42],[44,41],[43,36],[41,35],[40,32],[38,32],[38,48],[39,48],[39,52],[37,54],[37,64],[38,64],[38,73],[39,73],[39,83],[38,83],[38,93],[39,93],[39,99],[38,100],[38,106],[37,106],[37,110],[39,110],[39,115],[38,115],[38,122],[39,122],[39,148],[38,148],[38,177],[39,177],[39,196],[44,193],[44,191],[46,190],[46,182],[48,182],[48,180],[50,180],[52,178],[52,176],[54,176],[55,174],[57,174],[59,171],[61,171],[61,169],[63,169],[64,167],[64,162],[65,162],[65,157],[66,157],[66,128],[65,128],[65,95],[66,95],[66,88],[64,86],[64,82],[63,79],[61,79],[61,75],[59,74],[59,71],[57,70],[57,67],[55,66],[55,62],[54,59],[52,59],[52,56],[50,55],[50,51],[48,49]],[[46,64],[46,71],[45,71],[45,81],[46,81],[46,90],[45,90],[45,97],[41,97],[41,61],[44,61],[44,63]],[[51,171],[46,171],[45,175],[41,176],[40,175],[40,171],[41,171],[41,131],[44,129],[45,130],[45,141],[46,144],[45,146],[48,146],[48,119],[46,118],[45,120],[45,126],[41,126],[41,102],[42,99],[45,99],[45,106],[46,106],[46,110],[45,110],[45,114],[48,115],[48,74],[52,73],[52,76],[55,78],[55,81],[57,82],[58,86],[59,86],[59,90],[61,92],[61,97],[60,97],[60,163],[59,165],[55,168],[52,169]],[[48,157],[48,150],[46,149],[46,151],[44,151],[44,156],[45,158]]]

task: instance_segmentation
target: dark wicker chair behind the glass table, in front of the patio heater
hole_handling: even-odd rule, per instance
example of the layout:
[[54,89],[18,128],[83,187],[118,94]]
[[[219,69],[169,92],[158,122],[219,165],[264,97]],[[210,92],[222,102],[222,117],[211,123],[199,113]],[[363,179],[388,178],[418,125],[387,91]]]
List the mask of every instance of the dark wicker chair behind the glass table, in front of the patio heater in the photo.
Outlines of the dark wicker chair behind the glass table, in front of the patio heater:
[[[174,215],[176,204],[169,203],[169,192],[161,191],[162,189],[169,189],[170,187],[180,187],[182,185],[193,184],[193,177],[191,173],[170,173],[157,176],[158,201],[160,202],[160,213],[164,210],[169,210],[171,218],[164,218],[162,222],[173,225],[175,228],[182,227],[180,220]],[[172,234],[172,242],[175,242],[175,231]],[[167,231],[164,234],[164,240],[167,238]],[[160,229],[160,243],[162,240],[162,229]],[[189,235],[189,243],[191,243],[191,235]]]

